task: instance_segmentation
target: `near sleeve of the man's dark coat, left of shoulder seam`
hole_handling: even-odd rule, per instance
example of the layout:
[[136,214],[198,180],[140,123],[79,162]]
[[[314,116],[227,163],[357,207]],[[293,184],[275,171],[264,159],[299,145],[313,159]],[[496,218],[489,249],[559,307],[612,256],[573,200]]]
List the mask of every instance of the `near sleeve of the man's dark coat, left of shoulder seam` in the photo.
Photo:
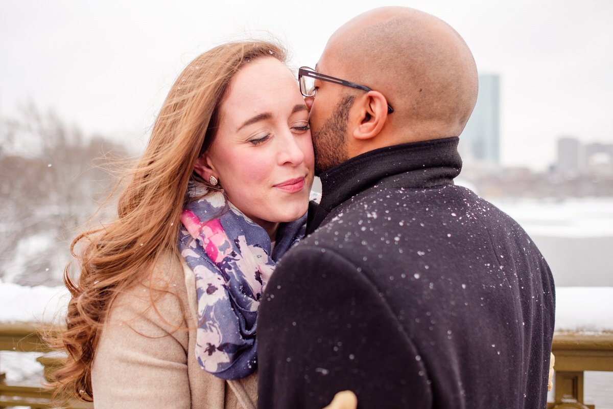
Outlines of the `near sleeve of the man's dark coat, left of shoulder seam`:
[[330,250],[299,246],[275,270],[258,318],[258,408],[430,408],[421,357],[383,293]]

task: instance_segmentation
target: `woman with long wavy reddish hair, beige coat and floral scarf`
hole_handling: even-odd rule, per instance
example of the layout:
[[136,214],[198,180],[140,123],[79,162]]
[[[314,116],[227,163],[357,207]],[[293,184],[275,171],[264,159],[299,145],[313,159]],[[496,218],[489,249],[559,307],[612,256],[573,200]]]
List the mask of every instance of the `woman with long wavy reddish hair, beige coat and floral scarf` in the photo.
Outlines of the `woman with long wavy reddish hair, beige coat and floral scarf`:
[[303,235],[313,182],[308,110],[284,59],[237,42],[177,78],[118,218],[73,242],[64,392],[96,409],[254,407],[259,298]]

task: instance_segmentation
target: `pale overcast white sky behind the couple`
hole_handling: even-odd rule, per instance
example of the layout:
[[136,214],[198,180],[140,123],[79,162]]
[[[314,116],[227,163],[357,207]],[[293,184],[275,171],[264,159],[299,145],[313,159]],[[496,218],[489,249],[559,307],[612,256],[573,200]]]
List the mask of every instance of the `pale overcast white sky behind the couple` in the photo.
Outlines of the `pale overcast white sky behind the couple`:
[[[560,136],[613,143],[612,0],[401,0],[451,24],[501,76],[501,159],[544,169]],[[142,147],[178,72],[226,40],[269,36],[295,66],[373,2],[0,0],[0,116],[31,100]]]

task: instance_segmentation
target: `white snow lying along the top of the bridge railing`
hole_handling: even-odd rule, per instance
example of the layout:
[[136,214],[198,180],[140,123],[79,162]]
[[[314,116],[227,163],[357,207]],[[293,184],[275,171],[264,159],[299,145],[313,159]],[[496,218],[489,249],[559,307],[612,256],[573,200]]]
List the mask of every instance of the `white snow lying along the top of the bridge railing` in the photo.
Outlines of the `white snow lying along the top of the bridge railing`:
[[[0,282],[0,322],[59,323],[70,298],[66,288]],[[558,287],[556,331],[613,331],[613,287]]]

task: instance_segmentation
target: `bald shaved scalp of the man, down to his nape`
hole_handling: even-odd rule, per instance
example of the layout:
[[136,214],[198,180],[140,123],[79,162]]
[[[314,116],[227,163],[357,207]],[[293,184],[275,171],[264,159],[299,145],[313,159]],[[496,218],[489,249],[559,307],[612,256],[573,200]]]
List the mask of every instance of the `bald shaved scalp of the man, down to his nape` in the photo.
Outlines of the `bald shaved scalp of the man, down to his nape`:
[[341,26],[320,59],[330,75],[380,91],[388,120],[408,140],[459,136],[476,102],[473,55],[460,35],[428,13],[381,7]]

